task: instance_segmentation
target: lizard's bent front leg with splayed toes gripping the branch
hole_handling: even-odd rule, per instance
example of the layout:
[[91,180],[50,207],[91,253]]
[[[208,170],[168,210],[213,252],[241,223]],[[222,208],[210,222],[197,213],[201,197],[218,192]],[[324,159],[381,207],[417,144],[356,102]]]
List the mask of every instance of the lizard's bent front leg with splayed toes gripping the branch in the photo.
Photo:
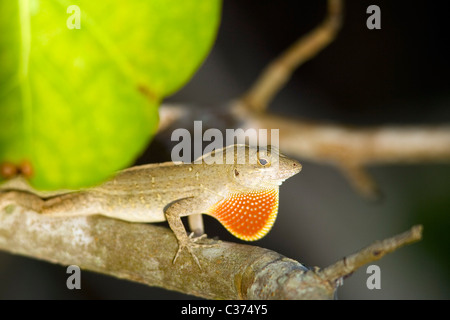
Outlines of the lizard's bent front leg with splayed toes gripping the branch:
[[[175,258],[173,259],[173,263],[175,263],[181,251],[183,251],[183,249],[187,249],[201,269],[200,262],[198,261],[198,258],[196,257],[192,249],[199,246],[205,246],[205,244],[196,243],[196,240],[203,237],[191,238],[190,236],[188,236],[183,222],[181,221],[181,217],[204,213],[214,203],[220,200],[214,199],[214,197],[211,198],[185,198],[171,203],[166,208],[164,214],[166,216],[167,222],[169,223],[170,229],[173,231],[178,241],[178,251],[175,255]],[[206,246],[211,245],[208,244]]]

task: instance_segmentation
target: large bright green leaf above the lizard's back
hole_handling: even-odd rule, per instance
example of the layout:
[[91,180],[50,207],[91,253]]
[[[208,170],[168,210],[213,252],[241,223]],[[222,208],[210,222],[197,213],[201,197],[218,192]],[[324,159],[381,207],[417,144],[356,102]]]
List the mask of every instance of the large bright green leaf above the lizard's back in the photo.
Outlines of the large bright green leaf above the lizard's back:
[[[80,29],[69,29],[80,9]],[[148,145],[205,59],[220,0],[0,0],[0,164],[40,189],[99,183]]]

